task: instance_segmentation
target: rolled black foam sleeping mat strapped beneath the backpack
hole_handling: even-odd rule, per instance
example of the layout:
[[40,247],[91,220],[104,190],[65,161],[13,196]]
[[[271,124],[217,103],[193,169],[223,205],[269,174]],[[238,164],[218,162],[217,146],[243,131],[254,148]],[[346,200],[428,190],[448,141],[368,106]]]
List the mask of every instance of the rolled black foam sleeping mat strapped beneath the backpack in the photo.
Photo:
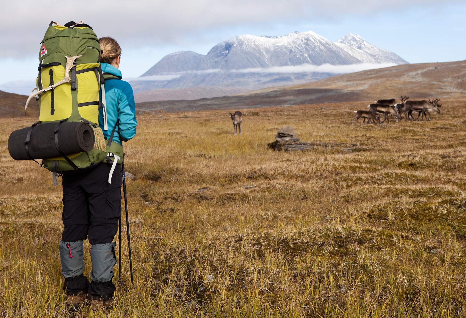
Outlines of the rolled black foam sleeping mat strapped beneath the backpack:
[[[14,160],[47,159],[62,156],[55,145],[54,132],[58,124],[58,122],[48,122],[15,130],[8,138],[10,156]],[[29,143],[26,145],[29,131],[31,131]],[[64,155],[90,151],[94,148],[94,130],[88,122],[62,122],[56,134],[58,146]],[[27,148],[29,156],[27,156]]]

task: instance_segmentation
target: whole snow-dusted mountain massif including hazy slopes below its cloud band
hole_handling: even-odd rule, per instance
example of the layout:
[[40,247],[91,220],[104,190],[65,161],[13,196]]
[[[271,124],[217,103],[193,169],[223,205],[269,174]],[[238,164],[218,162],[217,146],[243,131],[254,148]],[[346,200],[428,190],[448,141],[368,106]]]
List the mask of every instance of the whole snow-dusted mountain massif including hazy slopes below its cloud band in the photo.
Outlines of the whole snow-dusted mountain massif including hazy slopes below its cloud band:
[[[406,63],[397,54],[375,47],[357,34],[350,33],[336,42],[312,31],[283,36],[238,35],[215,45],[206,55],[191,51],[166,55],[131,85],[135,92],[197,86],[259,89],[347,72],[343,67],[341,72],[309,71],[309,66],[359,65],[357,69],[364,70]],[[144,80],[145,76],[167,74],[176,74],[176,78]]]

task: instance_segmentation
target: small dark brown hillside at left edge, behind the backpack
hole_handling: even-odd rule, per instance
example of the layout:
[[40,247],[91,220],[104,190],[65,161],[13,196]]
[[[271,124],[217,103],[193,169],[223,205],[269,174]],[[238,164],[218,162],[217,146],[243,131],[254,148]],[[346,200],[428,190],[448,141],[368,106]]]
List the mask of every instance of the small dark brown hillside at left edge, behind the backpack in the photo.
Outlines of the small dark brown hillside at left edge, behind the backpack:
[[[27,96],[25,95],[7,93],[0,90],[0,117],[24,117],[24,104],[26,100]],[[27,116],[34,119],[39,118],[39,107],[35,99],[27,106]]]

